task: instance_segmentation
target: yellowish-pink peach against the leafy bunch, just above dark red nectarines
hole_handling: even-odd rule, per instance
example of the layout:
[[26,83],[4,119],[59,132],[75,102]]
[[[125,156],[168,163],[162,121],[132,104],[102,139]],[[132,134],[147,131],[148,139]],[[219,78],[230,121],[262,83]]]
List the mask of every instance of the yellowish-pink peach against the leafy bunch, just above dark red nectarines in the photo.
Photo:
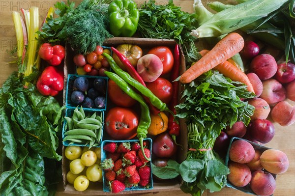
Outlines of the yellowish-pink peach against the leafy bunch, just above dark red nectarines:
[[266,100],[256,97],[249,99],[248,103],[255,108],[254,114],[251,116],[251,120],[267,118],[270,112],[270,107]]

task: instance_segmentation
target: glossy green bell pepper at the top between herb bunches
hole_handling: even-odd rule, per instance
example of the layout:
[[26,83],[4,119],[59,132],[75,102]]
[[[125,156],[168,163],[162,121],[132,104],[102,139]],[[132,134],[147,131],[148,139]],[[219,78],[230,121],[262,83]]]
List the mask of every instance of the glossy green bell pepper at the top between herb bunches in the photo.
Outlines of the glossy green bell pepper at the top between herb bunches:
[[110,31],[115,36],[131,37],[139,20],[137,4],[132,0],[114,0],[108,8]]

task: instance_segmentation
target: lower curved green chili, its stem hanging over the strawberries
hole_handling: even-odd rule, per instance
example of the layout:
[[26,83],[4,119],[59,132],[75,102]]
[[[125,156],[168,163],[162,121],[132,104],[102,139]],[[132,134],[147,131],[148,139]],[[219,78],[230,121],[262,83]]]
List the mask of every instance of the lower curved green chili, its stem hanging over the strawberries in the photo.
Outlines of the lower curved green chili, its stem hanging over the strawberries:
[[107,77],[109,77],[111,80],[113,80],[127,95],[129,95],[131,98],[135,99],[140,103],[141,108],[141,115],[140,115],[140,121],[137,127],[137,138],[140,141],[141,150],[143,151],[143,154],[145,158],[149,161],[150,158],[146,157],[146,154],[144,152],[144,145],[143,141],[147,138],[148,134],[148,127],[150,126],[151,119],[149,114],[149,108],[147,103],[145,102],[144,98],[135,92],[129,84],[127,84],[122,78],[120,78],[117,74],[105,71],[104,72]]

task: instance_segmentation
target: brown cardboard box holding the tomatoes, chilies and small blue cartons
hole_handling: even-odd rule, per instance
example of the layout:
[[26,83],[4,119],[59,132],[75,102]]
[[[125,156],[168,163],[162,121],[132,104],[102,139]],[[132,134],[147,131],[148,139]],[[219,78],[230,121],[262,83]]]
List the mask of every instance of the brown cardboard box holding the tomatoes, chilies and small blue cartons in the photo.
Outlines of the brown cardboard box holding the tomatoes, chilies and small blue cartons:
[[[170,48],[172,52],[174,52],[174,47],[176,42],[170,39],[148,39],[148,38],[135,38],[135,37],[114,37],[108,39],[103,45],[106,47],[117,47],[119,44],[133,44],[138,45],[143,50],[143,55],[147,54],[148,50],[155,46],[167,46]],[[68,74],[75,74],[76,73],[76,66],[73,64],[73,56],[74,51],[69,46],[66,46],[66,56],[65,56],[65,66],[64,66],[64,86],[67,84]],[[185,70],[185,59],[183,52],[180,48],[180,73],[183,73]],[[168,76],[169,77],[169,76]],[[179,92],[181,91],[179,87]],[[63,90],[63,98],[65,98],[66,90]],[[178,94],[180,99],[180,93]],[[63,99],[63,103],[65,105],[65,99]],[[105,111],[105,115],[107,114],[108,110],[112,107],[111,103],[108,102],[107,109]],[[187,146],[187,128],[186,124],[183,120],[180,120],[180,130],[181,134],[178,137],[178,143],[182,146]],[[151,136],[148,136],[151,137]],[[134,138],[137,139],[136,137]],[[103,134],[103,140],[110,140],[107,134]],[[89,188],[86,191],[79,192],[76,191],[73,185],[68,184],[66,181],[66,173],[69,171],[69,161],[64,156],[64,149],[63,146],[63,153],[62,153],[62,175],[63,175],[63,186],[64,186],[64,193],[67,194],[81,194],[81,195],[114,195],[111,192],[104,192],[103,191],[103,184],[102,183],[91,183]],[[181,163],[185,160],[187,149],[184,148],[181,150],[177,148],[176,153],[176,160],[177,162]],[[149,192],[164,192],[164,191],[179,191],[181,185],[181,178],[165,180],[165,181],[155,181],[153,180],[153,189],[149,190],[133,190],[133,191],[123,191],[119,194],[139,194],[139,193],[149,193]],[[117,194],[118,195],[118,194]]]

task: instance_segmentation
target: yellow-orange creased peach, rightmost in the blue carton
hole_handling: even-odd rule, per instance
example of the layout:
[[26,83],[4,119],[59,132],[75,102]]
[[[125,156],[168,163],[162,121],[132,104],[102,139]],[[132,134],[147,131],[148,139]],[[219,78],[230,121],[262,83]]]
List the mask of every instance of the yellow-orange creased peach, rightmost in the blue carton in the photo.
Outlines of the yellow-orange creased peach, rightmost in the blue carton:
[[275,149],[268,149],[260,156],[260,163],[268,172],[280,174],[289,168],[289,160],[287,155]]

